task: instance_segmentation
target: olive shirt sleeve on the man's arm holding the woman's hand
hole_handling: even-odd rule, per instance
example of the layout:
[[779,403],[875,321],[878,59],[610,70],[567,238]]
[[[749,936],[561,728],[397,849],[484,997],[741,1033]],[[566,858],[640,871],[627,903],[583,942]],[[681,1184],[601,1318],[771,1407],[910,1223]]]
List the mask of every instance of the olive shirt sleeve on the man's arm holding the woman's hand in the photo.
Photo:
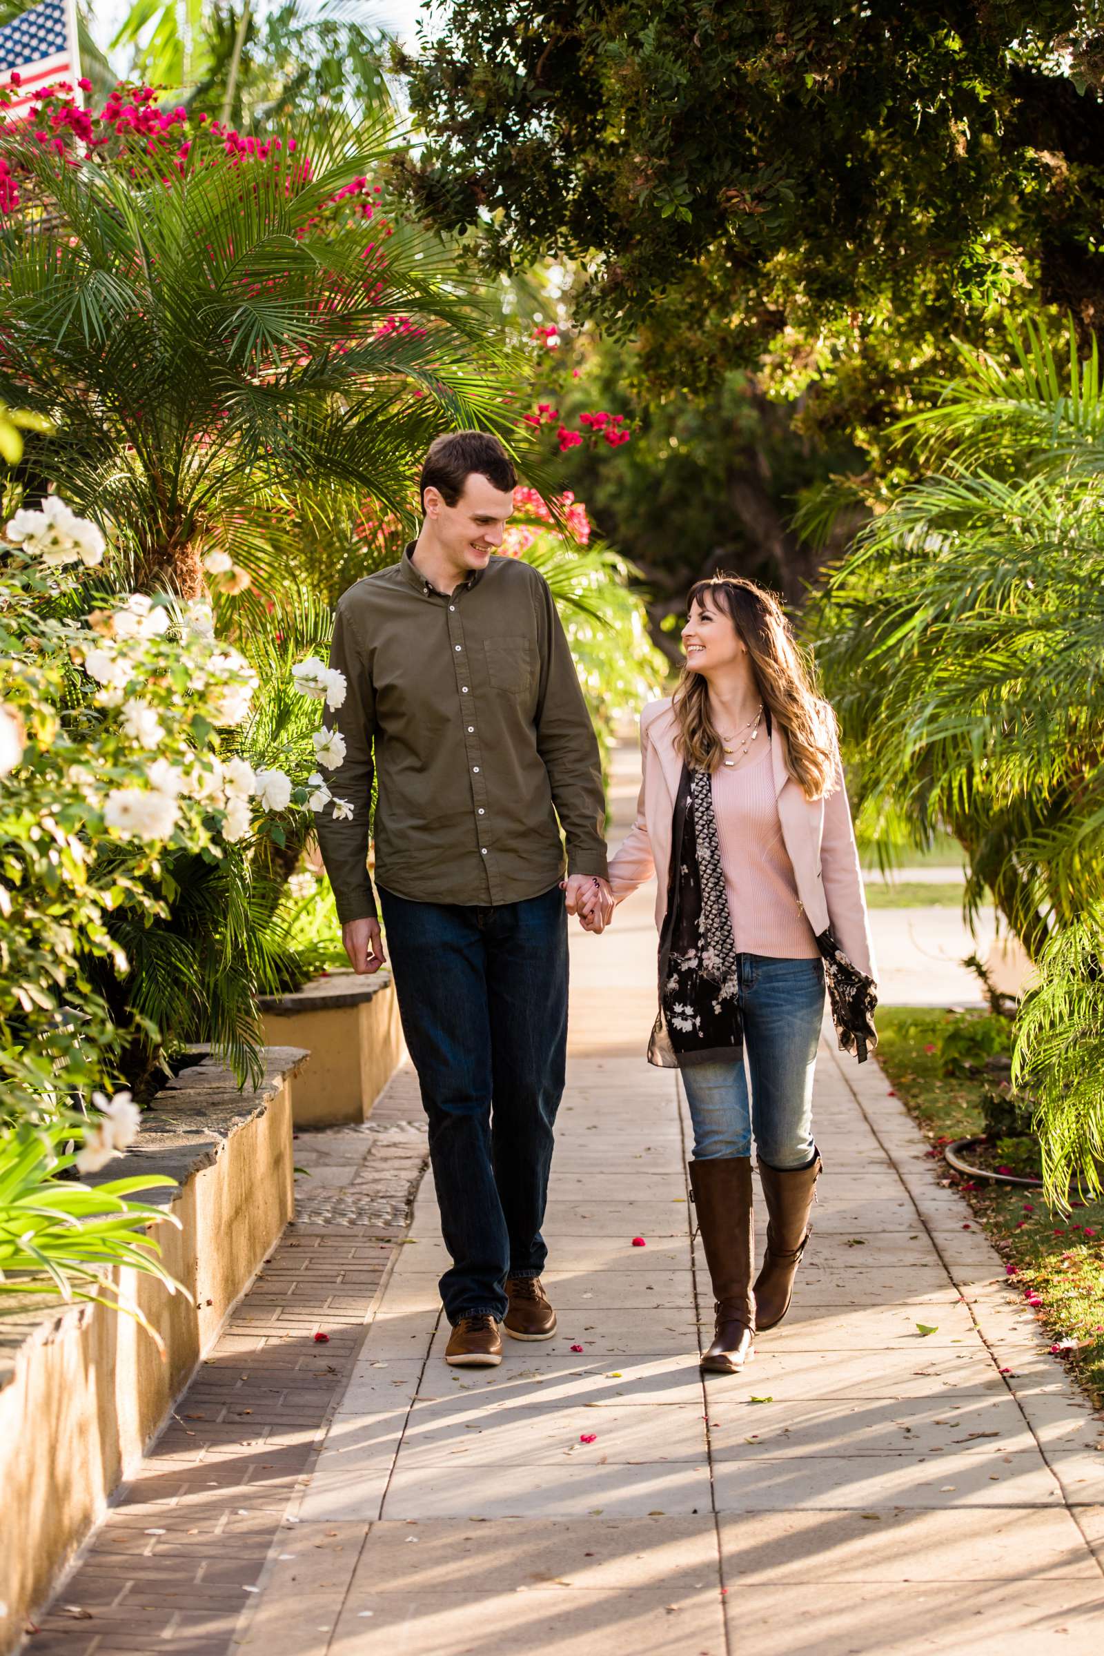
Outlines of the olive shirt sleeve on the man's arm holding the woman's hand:
[[543,634],[536,704],[536,747],[548,770],[553,805],[564,833],[569,874],[609,878],[606,788],[598,737],[574,671],[571,647],[546,581],[538,588]]

